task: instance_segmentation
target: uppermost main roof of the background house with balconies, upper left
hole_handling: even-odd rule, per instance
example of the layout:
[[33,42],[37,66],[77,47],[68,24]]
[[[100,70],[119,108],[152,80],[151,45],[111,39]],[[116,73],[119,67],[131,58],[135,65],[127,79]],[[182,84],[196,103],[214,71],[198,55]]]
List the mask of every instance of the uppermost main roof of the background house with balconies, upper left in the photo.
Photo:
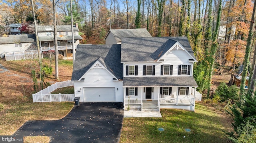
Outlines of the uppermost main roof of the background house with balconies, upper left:
[[[74,31],[79,31],[78,27],[73,27]],[[53,25],[38,25],[38,32],[54,31]],[[71,31],[71,25],[57,25],[57,31]]]

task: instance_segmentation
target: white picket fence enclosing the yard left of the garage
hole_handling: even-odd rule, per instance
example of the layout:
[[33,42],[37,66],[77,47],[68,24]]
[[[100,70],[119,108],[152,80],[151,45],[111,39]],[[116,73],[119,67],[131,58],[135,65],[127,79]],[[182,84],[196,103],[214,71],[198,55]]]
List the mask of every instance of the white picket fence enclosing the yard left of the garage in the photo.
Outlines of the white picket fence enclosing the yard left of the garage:
[[51,86],[32,94],[33,102],[62,102],[62,101],[74,101],[75,94],[50,94],[57,88],[74,86],[74,82],[68,80],[63,82],[56,82]]

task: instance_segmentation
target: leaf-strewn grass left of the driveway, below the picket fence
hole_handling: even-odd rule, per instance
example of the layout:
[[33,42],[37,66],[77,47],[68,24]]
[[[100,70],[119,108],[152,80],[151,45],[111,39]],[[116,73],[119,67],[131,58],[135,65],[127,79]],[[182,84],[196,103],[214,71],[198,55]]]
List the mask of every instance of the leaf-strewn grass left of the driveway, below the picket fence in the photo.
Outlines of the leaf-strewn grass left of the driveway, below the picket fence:
[[60,119],[73,102],[11,102],[0,111],[0,135],[12,135],[27,120]]

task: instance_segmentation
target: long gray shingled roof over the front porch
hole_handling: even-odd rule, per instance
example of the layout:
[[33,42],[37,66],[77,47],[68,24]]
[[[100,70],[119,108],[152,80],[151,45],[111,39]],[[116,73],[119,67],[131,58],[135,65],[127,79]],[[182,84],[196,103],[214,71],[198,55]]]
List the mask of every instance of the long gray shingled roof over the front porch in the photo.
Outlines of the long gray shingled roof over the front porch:
[[123,77],[123,86],[192,86],[198,87],[191,76]]

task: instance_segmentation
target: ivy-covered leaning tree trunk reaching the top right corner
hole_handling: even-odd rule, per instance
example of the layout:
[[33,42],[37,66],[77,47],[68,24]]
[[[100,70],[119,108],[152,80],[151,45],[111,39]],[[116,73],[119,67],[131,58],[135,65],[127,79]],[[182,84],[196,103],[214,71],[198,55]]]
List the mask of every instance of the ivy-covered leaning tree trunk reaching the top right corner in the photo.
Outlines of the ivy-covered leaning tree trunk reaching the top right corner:
[[[250,21],[250,29],[249,29],[249,34],[248,34],[248,39],[247,39],[247,44],[246,44],[246,50],[245,50],[245,55],[244,55],[244,70],[242,72],[242,79],[241,79],[241,84],[240,84],[240,96],[244,94],[244,86],[246,82],[246,76],[247,76],[247,70],[249,66],[249,60],[250,60],[250,53],[252,50],[252,35],[253,35],[253,28],[254,28],[254,20],[255,20],[255,8],[256,8],[256,2],[254,2],[254,7],[252,11],[252,18]],[[240,98],[241,99],[241,98]]]

